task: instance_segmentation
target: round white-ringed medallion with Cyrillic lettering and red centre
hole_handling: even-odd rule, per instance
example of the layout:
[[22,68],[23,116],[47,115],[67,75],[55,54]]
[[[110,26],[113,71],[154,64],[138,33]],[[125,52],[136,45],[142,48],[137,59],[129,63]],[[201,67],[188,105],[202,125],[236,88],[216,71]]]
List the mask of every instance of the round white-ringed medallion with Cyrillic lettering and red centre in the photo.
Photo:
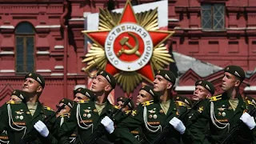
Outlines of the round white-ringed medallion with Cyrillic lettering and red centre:
[[150,61],[153,47],[150,34],[142,26],[122,23],[106,37],[106,58],[119,70],[135,71]]

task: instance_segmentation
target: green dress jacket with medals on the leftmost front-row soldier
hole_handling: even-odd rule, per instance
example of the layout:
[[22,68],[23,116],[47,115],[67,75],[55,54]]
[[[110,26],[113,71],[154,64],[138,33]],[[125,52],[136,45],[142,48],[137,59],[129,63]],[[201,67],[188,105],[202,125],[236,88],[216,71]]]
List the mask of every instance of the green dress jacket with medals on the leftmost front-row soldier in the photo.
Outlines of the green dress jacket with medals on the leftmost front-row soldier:
[[[6,104],[2,106],[0,113],[0,131],[7,131],[11,144],[20,142],[30,129],[34,129],[34,124],[38,122],[38,120],[43,121],[44,118],[55,114],[54,110],[51,110],[50,107],[42,106],[42,104],[38,102],[38,106],[32,116],[26,103],[22,101],[6,102]],[[50,132],[49,135],[43,138],[38,133],[36,139],[33,140],[34,143],[58,143],[58,140],[54,138],[54,135],[58,132],[56,118],[51,118],[46,123],[46,126]]]

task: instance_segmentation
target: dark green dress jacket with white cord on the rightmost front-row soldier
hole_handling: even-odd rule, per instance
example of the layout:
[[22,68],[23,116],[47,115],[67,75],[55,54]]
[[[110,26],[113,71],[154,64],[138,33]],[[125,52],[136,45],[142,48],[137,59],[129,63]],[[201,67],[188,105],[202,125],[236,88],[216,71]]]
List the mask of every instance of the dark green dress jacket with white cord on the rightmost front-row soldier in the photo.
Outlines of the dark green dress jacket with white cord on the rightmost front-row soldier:
[[[238,94],[238,106],[235,110],[230,106],[229,98],[226,93],[214,96],[210,100],[203,102],[198,108],[202,113],[198,116],[198,122],[195,122],[189,127],[191,138],[194,143],[216,143],[221,142],[223,138],[226,138],[228,132],[233,126],[240,121],[240,117],[245,111],[250,111],[255,106],[255,100],[250,97],[242,98]],[[253,115],[254,117],[255,115]],[[192,117],[197,117],[196,115]],[[195,118],[197,119],[197,118]],[[200,123],[201,124],[200,124]],[[203,127],[209,123],[209,134],[203,134]],[[234,138],[232,143],[256,143],[254,137],[254,131],[250,130],[244,123],[238,130],[238,134]]]

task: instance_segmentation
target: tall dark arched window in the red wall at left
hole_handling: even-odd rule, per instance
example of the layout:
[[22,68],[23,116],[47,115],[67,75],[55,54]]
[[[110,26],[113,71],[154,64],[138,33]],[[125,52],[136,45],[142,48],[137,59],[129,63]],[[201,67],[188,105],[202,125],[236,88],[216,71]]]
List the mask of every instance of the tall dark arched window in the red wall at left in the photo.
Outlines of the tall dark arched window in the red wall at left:
[[15,30],[16,73],[34,71],[34,27],[21,22]]

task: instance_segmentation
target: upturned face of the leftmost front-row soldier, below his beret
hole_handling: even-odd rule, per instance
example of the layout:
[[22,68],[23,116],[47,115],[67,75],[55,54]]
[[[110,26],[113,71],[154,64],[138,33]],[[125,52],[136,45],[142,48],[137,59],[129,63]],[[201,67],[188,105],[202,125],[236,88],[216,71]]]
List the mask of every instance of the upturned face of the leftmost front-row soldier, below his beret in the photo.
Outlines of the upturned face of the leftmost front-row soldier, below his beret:
[[42,86],[33,78],[26,78],[23,83],[22,91],[27,93],[41,92]]

